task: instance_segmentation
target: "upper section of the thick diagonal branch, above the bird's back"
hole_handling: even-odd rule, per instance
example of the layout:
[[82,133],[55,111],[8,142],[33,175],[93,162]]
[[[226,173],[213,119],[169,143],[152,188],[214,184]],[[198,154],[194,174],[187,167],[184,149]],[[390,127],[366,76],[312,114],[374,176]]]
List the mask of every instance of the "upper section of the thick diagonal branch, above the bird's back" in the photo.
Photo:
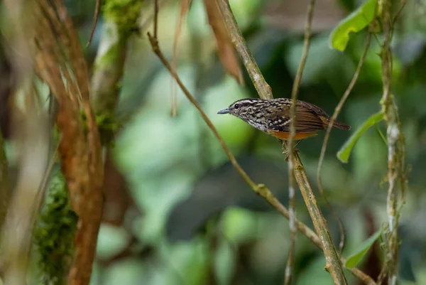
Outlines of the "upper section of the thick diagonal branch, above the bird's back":
[[249,72],[249,76],[253,82],[254,87],[256,88],[256,91],[258,92],[258,95],[264,99],[272,99],[273,95],[271,87],[263,78],[256,61],[249,60],[250,58],[253,58],[253,55],[247,47],[246,41],[244,41],[244,37],[241,34],[241,31],[239,31],[234,14],[229,7],[229,1],[216,1],[219,5],[220,11],[222,12],[222,16],[224,16],[224,21],[226,23],[226,27],[228,28],[229,34],[231,35],[231,42],[239,55],[241,55],[241,58],[243,58],[244,66],[246,66],[247,72]]

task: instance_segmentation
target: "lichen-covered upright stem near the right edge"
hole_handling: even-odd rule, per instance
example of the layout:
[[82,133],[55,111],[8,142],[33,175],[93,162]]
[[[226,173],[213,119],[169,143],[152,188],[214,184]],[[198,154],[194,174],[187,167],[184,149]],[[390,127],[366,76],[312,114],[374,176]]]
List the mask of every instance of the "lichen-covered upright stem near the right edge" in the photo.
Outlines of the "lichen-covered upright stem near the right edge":
[[381,4],[381,22],[383,24],[383,45],[381,48],[383,96],[381,107],[387,125],[388,139],[388,196],[386,199],[386,210],[388,213],[388,234],[386,235],[387,254],[386,264],[388,284],[397,283],[398,276],[398,207],[403,205],[403,195],[398,202],[397,184],[400,179],[402,194],[405,193],[404,160],[405,148],[403,134],[400,130],[398,108],[391,94],[392,80],[392,51],[391,41],[393,34],[393,19],[391,17],[391,1],[383,0]]

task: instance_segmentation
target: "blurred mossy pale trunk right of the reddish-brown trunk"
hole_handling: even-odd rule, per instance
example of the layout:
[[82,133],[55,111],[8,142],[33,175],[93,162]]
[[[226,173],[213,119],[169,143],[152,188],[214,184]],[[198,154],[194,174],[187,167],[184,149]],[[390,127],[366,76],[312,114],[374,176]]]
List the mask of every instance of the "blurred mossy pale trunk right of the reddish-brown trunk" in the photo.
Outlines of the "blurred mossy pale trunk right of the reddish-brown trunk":
[[[103,9],[104,25],[93,66],[90,99],[94,114],[98,118],[102,146],[107,151],[104,158],[102,222],[121,223],[131,199],[126,191],[116,191],[116,187],[108,183],[114,177],[121,181],[121,175],[116,171],[114,154],[110,147],[120,125],[115,116],[121,90],[120,82],[123,80],[124,67],[128,59],[129,43],[138,32],[136,27],[138,27],[143,0],[131,1],[131,3],[123,2],[126,9],[117,9],[113,2],[104,0],[104,4],[107,6],[104,6]],[[128,10],[131,13],[128,13]],[[120,21],[122,18],[126,18],[126,21]],[[119,198],[116,198],[116,195],[119,195]]]

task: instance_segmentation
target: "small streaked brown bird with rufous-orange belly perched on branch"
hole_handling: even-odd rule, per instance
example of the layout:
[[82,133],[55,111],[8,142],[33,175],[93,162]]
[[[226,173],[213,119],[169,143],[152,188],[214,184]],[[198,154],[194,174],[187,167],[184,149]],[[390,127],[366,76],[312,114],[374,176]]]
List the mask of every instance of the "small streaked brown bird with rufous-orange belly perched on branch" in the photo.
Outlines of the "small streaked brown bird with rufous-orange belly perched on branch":
[[[247,98],[237,100],[217,114],[232,114],[266,134],[289,140],[290,107],[291,100],[288,98]],[[295,141],[317,135],[318,131],[328,127],[330,120],[329,115],[320,107],[300,100],[296,101],[295,118]],[[351,129],[349,125],[338,122],[334,122],[333,127],[346,131]]]

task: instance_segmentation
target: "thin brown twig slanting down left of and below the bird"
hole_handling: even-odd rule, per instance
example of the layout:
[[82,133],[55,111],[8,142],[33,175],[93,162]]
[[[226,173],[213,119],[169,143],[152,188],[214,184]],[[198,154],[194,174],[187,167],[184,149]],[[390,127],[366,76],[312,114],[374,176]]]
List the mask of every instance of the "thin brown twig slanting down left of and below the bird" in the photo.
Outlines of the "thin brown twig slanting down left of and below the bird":
[[[239,163],[236,161],[236,158],[231,154],[231,151],[229,151],[224,140],[222,139],[222,137],[217,132],[217,129],[212,124],[212,121],[210,121],[209,117],[207,117],[207,114],[205,114],[202,108],[200,107],[200,104],[197,103],[197,101],[194,99],[194,97],[192,97],[191,93],[187,90],[185,85],[183,85],[182,81],[180,80],[180,77],[175,72],[175,70],[172,69],[170,63],[168,63],[168,60],[165,59],[163,53],[160,50],[160,47],[158,46],[158,40],[156,38],[153,38],[153,36],[151,36],[150,33],[148,33],[148,38],[153,48],[153,52],[155,53],[155,55],[158,56],[161,63],[163,63],[165,68],[168,69],[168,71],[173,76],[173,78],[175,78],[176,82],[178,83],[180,89],[182,90],[184,95],[187,97],[187,99],[195,106],[195,108],[197,108],[198,112],[200,112],[202,119],[204,120],[204,122],[206,122],[209,129],[212,130],[214,136],[216,136],[226,156],[228,157],[229,161],[231,161],[232,166],[236,168],[236,171],[238,171],[241,177],[244,178],[244,181],[246,181],[246,183],[249,184],[249,186],[251,187],[251,190],[253,190],[256,194],[260,195],[266,201],[268,201],[268,203],[271,204],[273,208],[275,208],[275,210],[278,211],[278,213],[283,215],[285,218],[289,219],[290,214],[288,212],[288,209],[285,208],[284,205],[281,204],[280,201],[273,196],[273,194],[271,193],[271,190],[266,188],[266,186],[263,184],[256,185],[256,183],[254,183],[251,180],[251,178],[241,168],[241,166],[239,166]],[[305,235],[305,237],[310,239],[313,244],[315,244],[318,248],[322,249],[322,242],[320,240],[320,237],[318,237],[315,234],[315,232],[310,229],[310,227],[308,227],[307,225],[305,225],[304,223],[300,222],[297,219],[295,220],[295,225],[297,227],[297,230],[299,230],[302,233],[302,235]],[[342,259],[342,262],[345,262],[344,259]],[[348,270],[351,271],[351,273],[354,274],[354,276],[358,277],[361,281],[364,281],[365,284],[368,284],[368,285],[375,284],[373,279],[371,279],[370,276],[364,274],[364,272],[362,272],[361,270],[356,268],[350,268]]]

